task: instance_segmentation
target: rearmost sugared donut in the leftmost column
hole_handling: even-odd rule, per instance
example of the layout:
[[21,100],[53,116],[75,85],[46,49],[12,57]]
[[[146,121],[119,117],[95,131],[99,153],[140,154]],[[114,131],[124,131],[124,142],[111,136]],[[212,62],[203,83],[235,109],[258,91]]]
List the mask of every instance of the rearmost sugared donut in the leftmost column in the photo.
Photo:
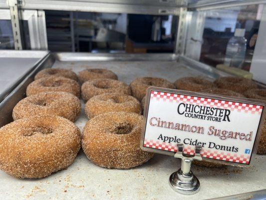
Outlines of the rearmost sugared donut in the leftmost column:
[[34,79],[39,79],[43,77],[48,77],[50,75],[63,76],[65,78],[70,78],[77,81],[77,74],[70,69],[62,69],[62,68],[46,68],[39,71]]

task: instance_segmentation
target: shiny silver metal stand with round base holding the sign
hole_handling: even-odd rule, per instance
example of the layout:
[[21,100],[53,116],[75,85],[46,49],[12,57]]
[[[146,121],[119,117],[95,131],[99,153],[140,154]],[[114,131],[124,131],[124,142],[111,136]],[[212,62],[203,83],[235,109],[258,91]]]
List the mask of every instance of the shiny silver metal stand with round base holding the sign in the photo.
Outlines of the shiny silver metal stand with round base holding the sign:
[[181,168],[171,174],[169,183],[171,187],[182,194],[195,194],[200,189],[200,181],[190,170],[191,162],[194,159],[202,160],[200,151],[202,146],[196,146],[195,155],[183,153],[183,144],[178,144],[178,151],[175,157],[181,158]]

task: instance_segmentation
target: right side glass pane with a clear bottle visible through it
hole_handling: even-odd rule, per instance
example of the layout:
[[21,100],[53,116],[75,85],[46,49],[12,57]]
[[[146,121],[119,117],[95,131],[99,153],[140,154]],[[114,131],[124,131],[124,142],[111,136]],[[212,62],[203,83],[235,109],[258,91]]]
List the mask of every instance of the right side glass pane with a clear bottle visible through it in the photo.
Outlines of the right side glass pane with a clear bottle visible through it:
[[249,71],[261,11],[260,5],[207,11],[200,61]]

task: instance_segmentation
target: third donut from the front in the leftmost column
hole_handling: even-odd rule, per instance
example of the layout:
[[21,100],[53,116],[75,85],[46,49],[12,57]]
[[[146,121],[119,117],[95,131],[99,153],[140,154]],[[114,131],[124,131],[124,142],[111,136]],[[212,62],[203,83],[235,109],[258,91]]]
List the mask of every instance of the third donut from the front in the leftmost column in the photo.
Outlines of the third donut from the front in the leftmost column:
[[51,75],[31,82],[27,86],[26,94],[29,96],[42,91],[65,91],[79,97],[80,86],[75,80],[62,76]]

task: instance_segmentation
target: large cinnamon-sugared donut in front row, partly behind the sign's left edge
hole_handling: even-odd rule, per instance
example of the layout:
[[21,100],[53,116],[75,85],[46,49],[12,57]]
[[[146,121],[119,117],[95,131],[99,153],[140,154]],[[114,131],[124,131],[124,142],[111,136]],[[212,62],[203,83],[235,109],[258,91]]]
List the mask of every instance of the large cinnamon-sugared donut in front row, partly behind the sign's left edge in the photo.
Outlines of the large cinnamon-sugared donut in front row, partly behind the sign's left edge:
[[82,148],[95,164],[107,168],[131,168],[147,162],[153,153],[140,149],[143,116],[134,112],[107,112],[90,119]]

